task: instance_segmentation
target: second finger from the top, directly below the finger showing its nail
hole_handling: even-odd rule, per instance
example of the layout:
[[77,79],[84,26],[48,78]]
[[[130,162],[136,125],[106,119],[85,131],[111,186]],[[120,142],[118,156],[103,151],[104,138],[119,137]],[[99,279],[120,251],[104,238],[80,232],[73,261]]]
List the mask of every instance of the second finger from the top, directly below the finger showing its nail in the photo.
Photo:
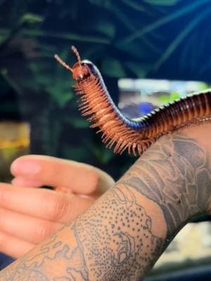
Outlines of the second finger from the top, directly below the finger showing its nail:
[[1,208],[58,223],[70,222],[94,200],[92,197],[65,195],[54,190],[14,188],[13,185],[0,183]]

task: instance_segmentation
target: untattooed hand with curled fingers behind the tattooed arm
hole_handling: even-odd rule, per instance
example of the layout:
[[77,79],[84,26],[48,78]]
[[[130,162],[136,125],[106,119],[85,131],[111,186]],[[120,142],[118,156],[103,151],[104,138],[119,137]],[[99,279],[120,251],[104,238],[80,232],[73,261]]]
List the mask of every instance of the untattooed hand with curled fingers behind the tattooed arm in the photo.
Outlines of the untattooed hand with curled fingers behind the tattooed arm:
[[37,155],[16,159],[11,173],[12,184],[0,183],[0,251],[14,258],[72,221],[114,183],[93,166]]

